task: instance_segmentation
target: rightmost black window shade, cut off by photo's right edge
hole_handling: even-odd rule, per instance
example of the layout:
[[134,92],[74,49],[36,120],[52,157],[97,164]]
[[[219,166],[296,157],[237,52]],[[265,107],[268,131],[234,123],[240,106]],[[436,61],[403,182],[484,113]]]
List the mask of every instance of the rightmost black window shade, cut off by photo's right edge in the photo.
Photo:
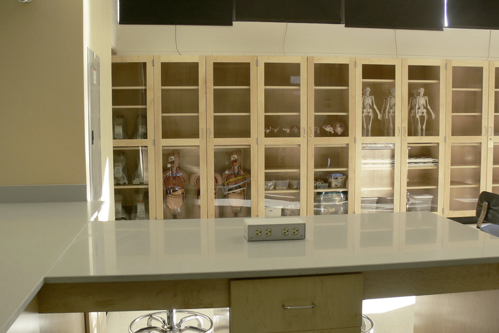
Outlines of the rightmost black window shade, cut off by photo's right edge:
[[450,28],[499,28],[497,0],[447,0],[447,20]]

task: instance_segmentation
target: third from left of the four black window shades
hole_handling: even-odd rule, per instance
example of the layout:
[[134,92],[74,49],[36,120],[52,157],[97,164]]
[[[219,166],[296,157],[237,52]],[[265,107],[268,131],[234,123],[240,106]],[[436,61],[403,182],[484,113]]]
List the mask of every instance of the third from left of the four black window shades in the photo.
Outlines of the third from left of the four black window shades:
[[345,26],[443,30],[444,0],[345,0]]

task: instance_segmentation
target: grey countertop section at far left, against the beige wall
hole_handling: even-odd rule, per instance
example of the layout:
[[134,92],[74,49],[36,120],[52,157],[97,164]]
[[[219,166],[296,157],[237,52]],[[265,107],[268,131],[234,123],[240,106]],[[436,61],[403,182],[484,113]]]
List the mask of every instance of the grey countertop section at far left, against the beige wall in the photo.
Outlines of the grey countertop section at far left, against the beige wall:
[[0,333],[36,295],[99,207],[91,202],[0,204]]

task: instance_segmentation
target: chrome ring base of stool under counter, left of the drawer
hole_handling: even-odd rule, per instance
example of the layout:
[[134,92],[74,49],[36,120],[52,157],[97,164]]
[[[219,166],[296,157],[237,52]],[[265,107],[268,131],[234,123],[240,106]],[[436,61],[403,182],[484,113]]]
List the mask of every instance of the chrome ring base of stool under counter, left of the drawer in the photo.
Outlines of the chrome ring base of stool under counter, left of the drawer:
[[[186,314],[177,322],[176,314]],[[166,315],[166,316],[165,316]],[[163,318],[165,317],[165,318]],[[147,319],[147,327],[133,329],[132,327],[138,322]],[[197,321],[198,326],[185,325],[190,321]],[[203,328],[205,323],[209,323],[210,327],[208,329]],[[156,324],[156,325],[153,325]],[[129,333],[182,333],[182,332],[202,332],[202,333],[213,333],[213,321],[210,317],[200,314],[194,311],[177,311],[166,310],[160,312],[154,312],[151,314],[140,316],[130,323],[128,326]]]

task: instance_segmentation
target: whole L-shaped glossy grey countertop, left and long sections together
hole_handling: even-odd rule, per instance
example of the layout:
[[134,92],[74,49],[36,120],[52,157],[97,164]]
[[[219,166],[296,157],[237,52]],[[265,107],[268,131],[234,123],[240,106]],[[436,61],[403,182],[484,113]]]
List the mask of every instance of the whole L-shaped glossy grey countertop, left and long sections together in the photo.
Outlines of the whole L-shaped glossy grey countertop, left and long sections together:
[[242,218],[87,223],[92,211],[86,202],[0,204],[0,333],[43,281],[265,277],[499,262],[499,238],[429,212],[307,216],[304,240],[247,242]]

